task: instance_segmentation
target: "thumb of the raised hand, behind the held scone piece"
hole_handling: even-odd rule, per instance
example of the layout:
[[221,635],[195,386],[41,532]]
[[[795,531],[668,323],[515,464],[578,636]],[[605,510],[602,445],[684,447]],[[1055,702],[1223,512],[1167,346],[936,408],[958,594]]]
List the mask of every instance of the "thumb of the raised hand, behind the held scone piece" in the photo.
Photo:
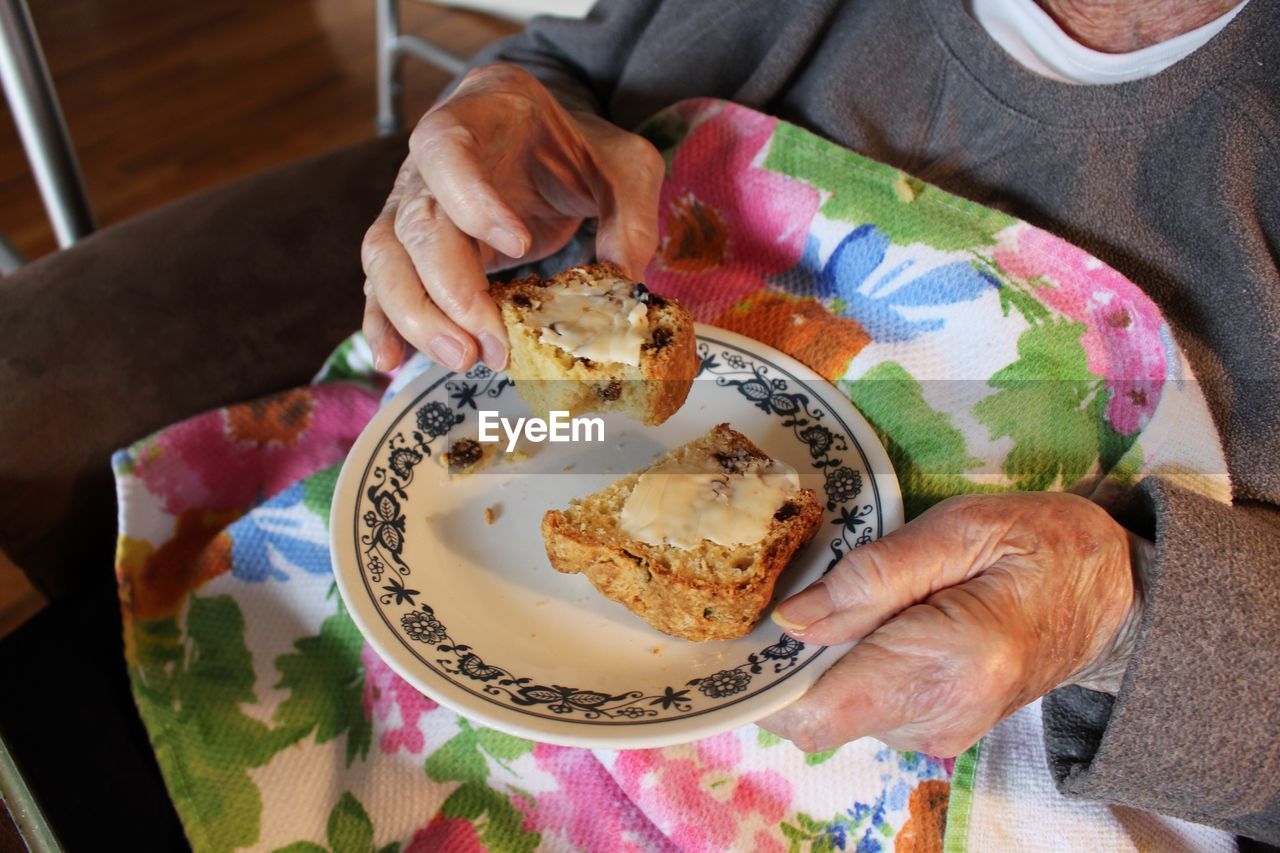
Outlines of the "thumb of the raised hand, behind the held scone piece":
[[611,161],[602,164],[603,186],[594,187],[600,218],[595,254],[640,279],[658,250],[658,197],[666,163],[648,140],[630,134],[608,158]]

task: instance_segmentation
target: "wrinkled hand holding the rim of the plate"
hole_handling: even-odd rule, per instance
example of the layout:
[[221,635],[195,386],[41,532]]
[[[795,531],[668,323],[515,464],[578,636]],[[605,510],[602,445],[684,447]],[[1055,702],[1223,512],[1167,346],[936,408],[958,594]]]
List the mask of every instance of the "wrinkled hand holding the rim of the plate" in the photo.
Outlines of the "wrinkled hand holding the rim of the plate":
[[945,501],[778,605],[805,643],[860,642],[760,725],[806,752],[955,756],[1064,683],[1115,692],[1151,548],[1071,494]]

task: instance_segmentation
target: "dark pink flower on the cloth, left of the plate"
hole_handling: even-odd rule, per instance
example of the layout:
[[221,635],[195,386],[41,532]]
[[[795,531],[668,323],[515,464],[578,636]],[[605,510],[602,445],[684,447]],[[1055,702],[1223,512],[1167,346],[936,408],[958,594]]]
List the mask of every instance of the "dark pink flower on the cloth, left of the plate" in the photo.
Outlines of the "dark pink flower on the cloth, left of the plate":
[[378,393],[349,383],[237,403],[134,447],[134,474],[170,515],[248,507],[346,459],[376,410]]

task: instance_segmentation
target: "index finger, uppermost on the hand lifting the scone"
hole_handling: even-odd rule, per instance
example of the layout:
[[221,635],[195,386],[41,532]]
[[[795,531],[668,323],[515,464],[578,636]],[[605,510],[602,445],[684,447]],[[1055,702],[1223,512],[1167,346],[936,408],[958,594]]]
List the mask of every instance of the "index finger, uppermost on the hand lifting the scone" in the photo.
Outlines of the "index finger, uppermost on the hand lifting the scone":
[[447,109],[429,113],[413,129],[410,158],[462,233],[508,257],[525,256],[532,242],[529,228],[490,182],[472,132]]

